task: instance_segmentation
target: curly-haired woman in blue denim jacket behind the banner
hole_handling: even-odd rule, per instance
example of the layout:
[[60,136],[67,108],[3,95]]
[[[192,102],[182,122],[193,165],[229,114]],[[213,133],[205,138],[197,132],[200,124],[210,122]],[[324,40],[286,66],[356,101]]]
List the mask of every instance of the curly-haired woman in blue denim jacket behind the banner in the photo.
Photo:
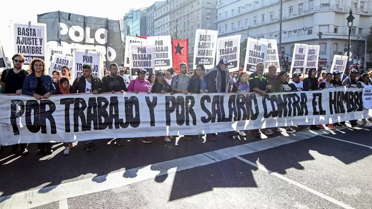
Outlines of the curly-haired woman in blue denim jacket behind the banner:
[[[54,94],[55,87],[52,78],[47,75],[45,70],[45,62],[42,59],[35,58],[31,61],[30,74],[26,76],[23,82],[22,94],[33,96],[35,99],[48,99],[50,95]],[[34,122],[35,129],[37,129],[38,122]],[[39,154],[51,154],[52,143],[39,143]]]

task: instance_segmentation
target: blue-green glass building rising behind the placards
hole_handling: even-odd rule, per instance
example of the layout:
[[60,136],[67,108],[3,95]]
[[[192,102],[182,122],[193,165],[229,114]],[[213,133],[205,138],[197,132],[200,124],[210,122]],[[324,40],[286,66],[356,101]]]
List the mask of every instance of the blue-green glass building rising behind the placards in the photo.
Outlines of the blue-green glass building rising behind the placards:
[[[141,26],[141,17],[146,17],[146,12],[144,10],[131,10],[124,16],[124,37],[125,36],[146,36],[146,18],[142,19],[142,28]],[[142,33],[141,33],[142,32]]]

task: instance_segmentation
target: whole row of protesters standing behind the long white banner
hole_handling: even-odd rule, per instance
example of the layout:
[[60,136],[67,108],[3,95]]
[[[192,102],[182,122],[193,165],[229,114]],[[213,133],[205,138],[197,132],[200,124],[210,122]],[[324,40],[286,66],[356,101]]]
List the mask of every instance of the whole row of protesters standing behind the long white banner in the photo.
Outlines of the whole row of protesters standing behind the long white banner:
[[[4,70],[1,74],[1,90],[5,94],[28,95],[35,99],[48,99],[52,94],[74,94],[74,93],[123,93],[125,91],[133,93],[159,93],[159,94],[199,94],[199,93],[258,93],[264,96],[272,92],[288,92],[288,91],[315,91],[338,86],[346,86],[349,88],[363,88],[372,83],[372,69],[368,73],[359,75],[359,71],[352,69],[349,76],[341,79],[341,72],[334,71],[333,74],[322,72],[321,77],[317,78],[317,70],[310,69],[308,76],[301,80],[301,74],[292,74],[288,78],[286,71],[281,71],[277,74],[275,66],[270,66],[266,75],[263,74],[264,64],[256,65],[256,72],[250,75],[243,71],[242,68],[238,72],[229,72],[229,62],[222,59],[218,62],[215,68],[206,70],[204,65],[196,66],[192,75],[187,71],[186,63],[180,64],[180,73],[175,74],[173,68],[166,71],[157,71],[155,74],[148,74],[143,68],[138,69],[137,77],[130,79],[126,73],[127,68],[124,63],[119,67],[113,63],[106,70],[104,66],[104,77],[102,80],[99,77],[92,75],[92,69],[89,64],[84,64],[82,67],[81,77],[77,77],[74,81],[71,80],[70,68],[63,66],[61,71],[55,70],[52,72],[52,77],[48,75],[44,60],[35,58],[29,65],[29,71],[23,70],[22,66],[25,62],[25,57],[20,54],[15,54],[12,57],[13,68]],[[146,78],[147,75],[147,78]],[[364,126],[371,127],[370,119],[363,119]],[[357,126],[356,120],[350,121],[352,127]],[[328,129],[336,129],[345,126],[344,122],[326,124]],[[296,130],[292,126],[282,127],[287,133],[294,133]],[[324,125],[301,126],[301,131],[308,129],[324,129]],[[273,128],[276,132],[282,132],[279,127]],[[261,133],[265,135],[273,134],[270,128],[251,130],[255,137],[261,137]],[[244,131],[228,132],[228,136],[246,137]],[[157,136],[163,137],[165,142],[171,142],[172,136]],[[198,138],[199,136],[184,136],[188,141]],[[215,141],[216,134],[207,134],[206,140]],[[142,138],[143,143],[151,144],[149,138]],[[124,145],[122,139],[116,139],[115,143],[119,146]],[[94,142],[86,141],[86,150],[93,151]],[[15,144],[12,146],[13,152],[20,149],[21,155],[28,154],[28,144]],[[72,142],[64,143],[64,155],[70,153],[73,147]],[[2,149],[3,147],[1,147]],[[51,143],[38,143],[38,152],[41,155],[52,153]]]

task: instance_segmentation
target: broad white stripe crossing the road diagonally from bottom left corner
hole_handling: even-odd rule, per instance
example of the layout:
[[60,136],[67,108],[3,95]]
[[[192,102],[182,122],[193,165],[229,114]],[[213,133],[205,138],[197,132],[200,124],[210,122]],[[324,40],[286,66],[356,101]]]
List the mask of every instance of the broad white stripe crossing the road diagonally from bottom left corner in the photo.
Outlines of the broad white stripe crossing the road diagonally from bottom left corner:
[[253,152],[258,152],[292,142],[302,141],[323,133],[321,131],[302,131],[289,136],[278,136],[248,144],[228,147],[189,157],[174,159],[144,167],[133,168],[126,171],[119,171],[94,178],[72,181],[55,186],[48,186],[42,189],[35,189],[20,192],[9,196],[0,197],[0,209],[11,208],[35,208],[62,199],[73,198],[85,194],[102,192],[109,189],[126,186],[128,184],[151,179],[156,176],[174,173],[190,168],[200,167],[237,157]]

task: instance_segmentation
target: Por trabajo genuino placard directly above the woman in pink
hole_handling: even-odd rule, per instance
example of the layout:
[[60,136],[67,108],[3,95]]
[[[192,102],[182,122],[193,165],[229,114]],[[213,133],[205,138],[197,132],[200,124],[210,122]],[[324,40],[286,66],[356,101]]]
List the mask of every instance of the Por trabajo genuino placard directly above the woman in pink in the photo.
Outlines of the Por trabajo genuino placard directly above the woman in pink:
[[131,75],[137,76],[137,70],[144,68],[146,75],[155,73],[154,45],[149,43],[129,44],[129,65]]

